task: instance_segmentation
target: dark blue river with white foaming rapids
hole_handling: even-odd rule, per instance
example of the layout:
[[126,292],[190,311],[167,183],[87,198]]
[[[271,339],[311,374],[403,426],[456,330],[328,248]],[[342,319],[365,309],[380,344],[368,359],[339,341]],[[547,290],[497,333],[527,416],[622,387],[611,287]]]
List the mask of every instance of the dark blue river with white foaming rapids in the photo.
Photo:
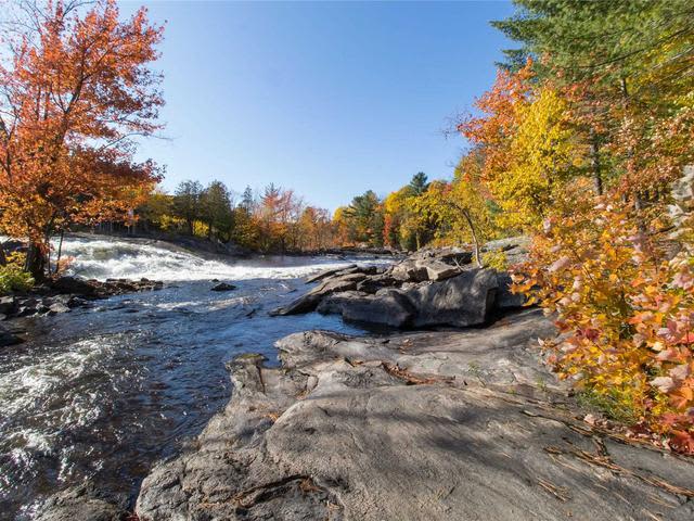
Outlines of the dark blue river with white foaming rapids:
[[[295,331],[360,331],[317,314],[268,316],[305,291],[301,277],[345,259],[210,259],[100,239],[66,240],[63,254],[76,275],[166,285],[26,319],[28,341],[0,352],[0,519],[31,519],[47,495],[85,480],[132,500],[151,466],[229,399],[224,361],[275,360],[273,342]],[[211,292],[213,279],[237,289]]]

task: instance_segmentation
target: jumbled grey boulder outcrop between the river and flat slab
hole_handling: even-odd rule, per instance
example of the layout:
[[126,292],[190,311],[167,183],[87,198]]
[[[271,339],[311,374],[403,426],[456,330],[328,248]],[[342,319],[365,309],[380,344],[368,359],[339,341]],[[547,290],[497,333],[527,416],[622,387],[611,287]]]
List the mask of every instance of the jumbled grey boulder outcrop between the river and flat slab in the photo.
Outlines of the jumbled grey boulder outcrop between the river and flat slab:
[[330,269],[306,280],[319,285],[271,314],[318,310],[394,328],[467,327],[485,323],[494,310],[523,306],[524,297],[509,289],[507,274],[475,268],[471,259],[459,249],[423,250],[388,268]]

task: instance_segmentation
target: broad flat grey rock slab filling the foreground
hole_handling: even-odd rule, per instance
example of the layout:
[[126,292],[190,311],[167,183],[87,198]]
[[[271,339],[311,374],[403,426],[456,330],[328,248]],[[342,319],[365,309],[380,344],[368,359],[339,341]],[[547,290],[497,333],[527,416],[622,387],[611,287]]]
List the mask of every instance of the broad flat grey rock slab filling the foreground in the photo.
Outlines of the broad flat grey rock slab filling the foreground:
[[158,520],[691,520],[691,459],[581,420],[538,312],[389,338],[324,331],[231,365],[234,394],[138,498]]

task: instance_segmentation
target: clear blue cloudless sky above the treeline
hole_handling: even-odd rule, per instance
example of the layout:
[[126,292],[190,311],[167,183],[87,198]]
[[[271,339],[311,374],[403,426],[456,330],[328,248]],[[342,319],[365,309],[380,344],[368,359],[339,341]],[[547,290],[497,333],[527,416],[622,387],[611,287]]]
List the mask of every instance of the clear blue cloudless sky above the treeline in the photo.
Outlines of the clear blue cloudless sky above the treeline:
[[146,5],[167,21],[156,66],[169,139],[140,156],[167,166],[164,188],[274,182],[331,211],[420,170],[451,176],[464,142],[442,129],[492,84],[507,42],[489,21],[512,12],[497,1]]

